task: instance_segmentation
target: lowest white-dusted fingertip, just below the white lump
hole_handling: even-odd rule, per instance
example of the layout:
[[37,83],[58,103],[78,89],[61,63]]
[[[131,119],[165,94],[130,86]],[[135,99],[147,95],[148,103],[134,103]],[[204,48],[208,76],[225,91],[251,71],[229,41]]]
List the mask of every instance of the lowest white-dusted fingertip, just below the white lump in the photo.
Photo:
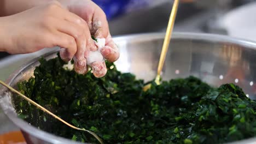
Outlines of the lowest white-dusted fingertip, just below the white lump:
[[107,74],[107,67],[105,62],[94,62],[92,63],[91,68],[95,77],[102,77]]

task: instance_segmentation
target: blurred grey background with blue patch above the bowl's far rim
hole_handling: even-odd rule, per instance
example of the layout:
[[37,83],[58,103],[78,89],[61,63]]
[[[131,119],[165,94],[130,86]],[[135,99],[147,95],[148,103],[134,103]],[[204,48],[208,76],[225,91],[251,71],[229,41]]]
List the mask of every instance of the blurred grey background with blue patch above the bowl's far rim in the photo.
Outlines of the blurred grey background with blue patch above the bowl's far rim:
[[[93,0],[112,35],[165,32],[172,0]],[[181,0],[174,31],[217,33],[256,41],[255,0]],[[0,59],[8,56],[0,52]]]

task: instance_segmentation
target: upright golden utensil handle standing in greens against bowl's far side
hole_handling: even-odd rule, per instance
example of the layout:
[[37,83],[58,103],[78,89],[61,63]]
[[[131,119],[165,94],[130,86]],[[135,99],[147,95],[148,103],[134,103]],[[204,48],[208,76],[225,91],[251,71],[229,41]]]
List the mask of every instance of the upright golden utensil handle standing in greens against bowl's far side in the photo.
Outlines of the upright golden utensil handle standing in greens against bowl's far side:
[[[158,63],[158,74],[155,77],[156,85],[160,85],[160,75],[161,75],[162,67],[164,66],[164,63],[165,63],[166,53],[168,51],[168,47],[170,44],[172,30],[173,30],[177,10],[178,10],[178,5],[179,5],[179,0],[174,0],[173,6],[172,6],[172,11],[171,11],[169,22],[168,22],[168,26],[166,29],[164,44],[162,45],[161,56],[160,56],[159,63]],[[150,88],[150,86],[151,86],[150,84],[144,86],[143,91],[147,91]]]

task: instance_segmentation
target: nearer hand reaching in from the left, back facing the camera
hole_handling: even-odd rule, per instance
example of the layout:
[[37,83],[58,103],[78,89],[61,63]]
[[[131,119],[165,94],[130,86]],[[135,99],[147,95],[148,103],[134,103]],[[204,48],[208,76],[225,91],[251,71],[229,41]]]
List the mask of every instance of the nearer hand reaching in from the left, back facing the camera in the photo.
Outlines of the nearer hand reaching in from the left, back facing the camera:
[[[5,34],[1,38],[5,51],[15,54],[44,47],[65,47],[65,52],[61,52],[62,59],[69,61],[75,57],[74,69],[79,74],[88,70],[85,55],[89,50],[86,47],[97,49],[87,23],[57,1],[1,17],[0,25]],[[97,63],[94,65],[97,68]]]

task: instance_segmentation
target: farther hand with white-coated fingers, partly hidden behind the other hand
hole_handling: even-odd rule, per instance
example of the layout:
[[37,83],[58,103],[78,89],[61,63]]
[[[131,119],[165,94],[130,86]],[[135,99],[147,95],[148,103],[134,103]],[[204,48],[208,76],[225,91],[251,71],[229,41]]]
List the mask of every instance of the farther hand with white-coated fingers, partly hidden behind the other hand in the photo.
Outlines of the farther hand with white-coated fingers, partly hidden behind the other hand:
[[[109,33],[108,22],[103,10],[90,0],[65,0],[60,2],[69,11],[86,21],[91,35],[94,35],[95,38],[106,39],[106,45],[101,49],[101,53],[109,62],[117,61],[119,58],[118,47]],[[98,48],[95,46],[86,47],[89,47],[90,51],[85,53],[85,58],[88,58],[91,51],[96,51]],[[62,52],[65,52],[65,50],[62,50]],[[102,77],[107,73],[105,62],[94,62],[91,67],[96,77]]]

